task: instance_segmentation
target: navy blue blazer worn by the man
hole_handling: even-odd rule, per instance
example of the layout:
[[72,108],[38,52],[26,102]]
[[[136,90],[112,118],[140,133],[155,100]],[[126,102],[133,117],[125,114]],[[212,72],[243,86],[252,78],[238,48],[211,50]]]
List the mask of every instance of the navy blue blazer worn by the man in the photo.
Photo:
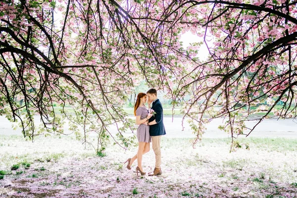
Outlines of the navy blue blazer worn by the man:
[[151,116],[149,118],[149,122],[156,120],[157,124],[149,125],[149,135],[150,136],[162,136],[166,134],[164,123],[163,123],[163,107],[159,99],[156,99],[156,101],[152,102],[152,105],[150,107],[153,109],[156,114],[154,116]]

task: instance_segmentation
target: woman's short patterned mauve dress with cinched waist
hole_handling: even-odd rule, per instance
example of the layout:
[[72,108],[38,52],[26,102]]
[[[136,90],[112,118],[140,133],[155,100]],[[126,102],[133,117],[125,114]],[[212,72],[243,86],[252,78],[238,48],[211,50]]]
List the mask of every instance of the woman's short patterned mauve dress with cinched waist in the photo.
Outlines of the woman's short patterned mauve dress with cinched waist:
[[[148,116],[148,109],[144,106],[139,106],[136,109],[136,116],[140,115],[140,119],[145,119]],[[137,128],[137,139],[138,142],[146,142],[146,143],[150,143],[150,136],[149,136],[149,126],[145,125],[145,124],[141,124],[139,125],[139,127]]]

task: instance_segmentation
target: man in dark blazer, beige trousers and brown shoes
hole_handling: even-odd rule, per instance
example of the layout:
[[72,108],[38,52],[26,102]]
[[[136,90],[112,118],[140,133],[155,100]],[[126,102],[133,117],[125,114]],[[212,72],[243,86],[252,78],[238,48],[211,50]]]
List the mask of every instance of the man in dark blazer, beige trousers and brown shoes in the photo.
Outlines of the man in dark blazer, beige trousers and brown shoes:
[[[155,168],[152,174],[148,176],[161,175],[161,136],[165,135],[165,128],[163,123],[163,107],[160,100],[157,98],[157,91],[150,89],[147,92],[148,95],[148,107],[154,110],[155,114],[148,120],[149,135],[151,136],[152,149],[155,153]],[[150,105],[151,104],[151,105]]]

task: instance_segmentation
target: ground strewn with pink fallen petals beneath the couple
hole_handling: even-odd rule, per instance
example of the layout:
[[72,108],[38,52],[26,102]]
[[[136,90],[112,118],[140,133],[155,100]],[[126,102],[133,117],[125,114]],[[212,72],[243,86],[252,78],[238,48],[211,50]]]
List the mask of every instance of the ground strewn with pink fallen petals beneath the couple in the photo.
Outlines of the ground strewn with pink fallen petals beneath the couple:
[[[109,146],[100,156],[74,137],[0,136],[0,197],[168,198],[297,197],[297,139],[247,138],[250,150],[229,152],[230,139],[161,142],[163,174],[137,176],[122,163],[137,148]],[[106,154],[106,156],[104,156]],[[152,149],[144,171],[154,168]]]

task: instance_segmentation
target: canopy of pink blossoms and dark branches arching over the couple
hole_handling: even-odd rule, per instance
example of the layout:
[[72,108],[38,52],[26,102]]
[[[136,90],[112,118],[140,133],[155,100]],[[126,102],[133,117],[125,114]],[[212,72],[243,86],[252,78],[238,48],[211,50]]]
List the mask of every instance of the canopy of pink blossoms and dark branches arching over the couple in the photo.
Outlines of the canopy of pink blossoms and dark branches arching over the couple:
[[[123,133],[135,126],[122,105],[145,80],[182,106],[194,143],[205,123],[225,117],[221,129],[232,134],[233,148],[241,147],[235,139],[254,129],[245,121],[296,117],[296,3],[2,0],[0,115],[31,138],[63,133],[69,120],[70,130],[94,148],[110,138],[128,147],[133,137]],[[201,42],[183,46],[187,32]],[[205,60],[198,57],[202,45]],[[108,130],[114,123],[117,139]],[[88,139],[93,132],[96,144]]]

